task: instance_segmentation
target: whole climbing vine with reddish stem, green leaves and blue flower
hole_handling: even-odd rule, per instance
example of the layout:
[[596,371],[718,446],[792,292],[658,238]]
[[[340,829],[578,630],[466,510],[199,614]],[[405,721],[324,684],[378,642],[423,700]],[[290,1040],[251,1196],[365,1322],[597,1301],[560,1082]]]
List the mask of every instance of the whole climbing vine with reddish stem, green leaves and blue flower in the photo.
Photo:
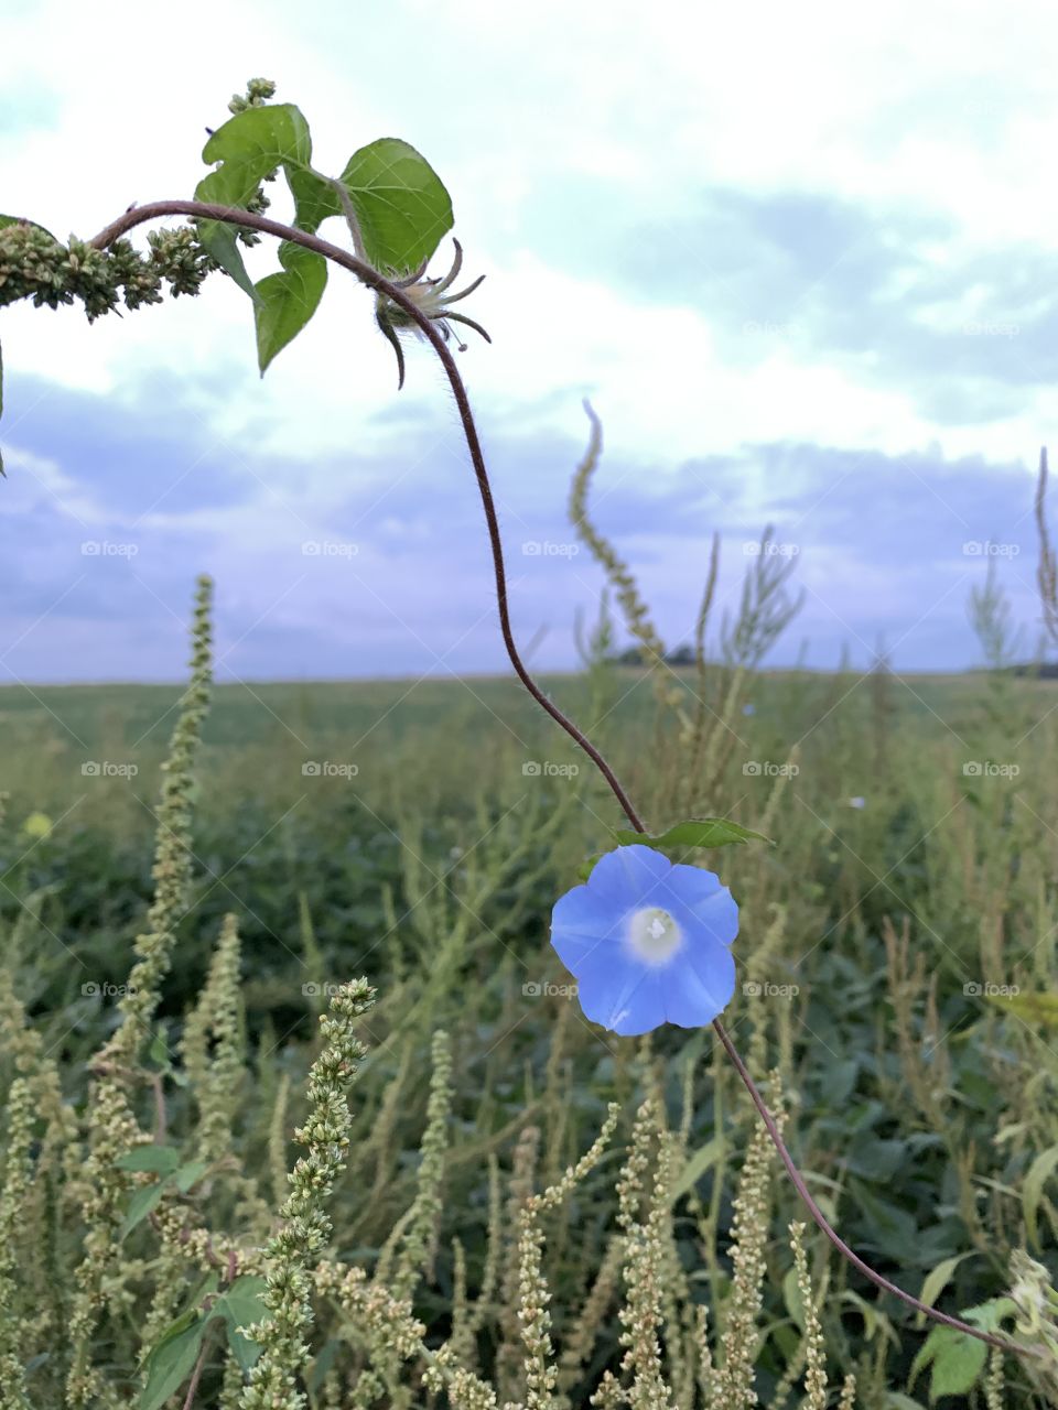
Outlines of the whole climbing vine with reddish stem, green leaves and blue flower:
[[[396,358],[398,386],[406,374],[402,334],[423,338],[440,360],[458,410],[485,517],[501,633],[513,671],[587,754],[628,823],[611,828],[600,852],[580,863],[580,884],[554,908],[553,943],[580,980],[585,1014],[616,1034],[642,1034],[663,1022],[684,1028],[712,1024],[790,1180],[842,1258],[882,1290],[954,1334],[1030,1359],[1054,1355],[1050,1341],[1002,1335],[995,1327],[951,1317],[913,1297],[851,1249],[813,1197],[784,1144],[780,1120],[769,1110],[719,1017],[734,991],[731,942],[738,931],[738,905],[712,871],[684,862],[673,864],[667,856],[774,843],[725,818],[652,819],[647,826],[598,747],[535,681],[511,625],[497,508],[454,357],[463,348],[456,336],[460,329],[488,340],[464,307],[454,307],[473,295],[482,276],[457,288],[463,269],[458,241],[447,271],[427,275],[453,228],[449,193],[415,148],[389,137],[358,148],[340,175],[323,175],[313,166],[312,137],[300,110],[272,103],[274,93],[271,82],[254,79],[244,96],[231,100],[231,117],[209,133],[202,152],[209,171],[190,199],[130,206],[93,238],[71,235],[65,244],[30,219],[0,216],[0,305],[23,299],[51,309],[80,303],[92,321],[120,307],[135,310],[158,303],[166,290],[172,298],[196,295],[207,278],[223,275],[250,300],[257,361],[264,374],[316,313],[329,266],[334,265],[374,292],[375,321]],[[268,214],[268,188],[279,175],[293,203],[289,223]],[[150,230],[145,250],[130,241],[130,233],[140,226],[171,217],[186,223]],[[329,220],[343,223],[351,248],[320,235]],[[278,240],[281,268],[254,281],[243,251],[262,235]],[[577,866],[571,859],[571,878]],[[347,1046],[351,1052],[351,1041]],[[272,1306],[272,1320],[276,1316]],[[271,1345],[276,1337],[262,1340]],[[254,1376],[261,1380],[267,1368],[268,1356],[254,1368],[251,1382]]]

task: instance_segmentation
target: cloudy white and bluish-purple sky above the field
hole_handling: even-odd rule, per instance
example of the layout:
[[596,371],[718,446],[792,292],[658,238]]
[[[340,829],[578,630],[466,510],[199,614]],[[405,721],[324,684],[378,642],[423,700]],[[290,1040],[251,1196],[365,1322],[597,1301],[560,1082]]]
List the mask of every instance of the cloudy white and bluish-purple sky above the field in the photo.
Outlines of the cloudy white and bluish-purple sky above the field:
[[[670,644],[712,532],[731,603],[769,523],[804,588],[772,664],[868,664],[880,643],[906,671],[973,664],[989,558],[1034,639],[1033,479],[1058,415],[1048,7],[104,11],[0,0],[0,212],[90,237],[190,196],[251,75],[302,107],[323,169],[416,145],[467,276],[488,276],[464,307],[494,343],[471,334],[461,367],[537,666],[574,663],[602,584],[564,517],[585,396],[597,520]],[[420,345],[398,395],[353,279],[332,274],[264,381],[223,276],[92,327],[8,307],[0,338],[0,681],[178,677],[202,570],[227,675],[502,667],[450,395]]]

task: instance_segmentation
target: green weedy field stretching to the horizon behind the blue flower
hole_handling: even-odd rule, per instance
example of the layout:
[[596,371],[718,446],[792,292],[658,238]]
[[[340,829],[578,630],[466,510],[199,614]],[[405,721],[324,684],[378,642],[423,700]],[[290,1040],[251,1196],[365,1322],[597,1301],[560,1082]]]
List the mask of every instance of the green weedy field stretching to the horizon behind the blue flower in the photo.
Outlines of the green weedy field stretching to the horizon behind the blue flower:
[[[1002,1321],[992,1300],[1011,1286],[1011,1253],[1027,1248],[1051,1280],[1058,1258],[1057,688],[987,673],[717,667],[695,723],[694,673],[595,663],[545,685],[611,757],[652,826],[724,814],[774,839],[698,859],[742,907],[728,1029],[762,1081],[773,1067],[782,1073],[789,1144],[842,1237],[916,1294],[940,1269],[928,1300],[952,1313],[989,1304],[995,1325],[1010,1331],[1013,1314]],[[159,766],[181,695],[161,685],[0,691],[3,1062],[8,1080],[30,1072],[39,1091],[52,1077],[61,1084],[65,1110],[82,1122],[66,1149],[80,1151],[96,1179],[106,1128],[87,1097],[100,1080],[92,1053],[116,1032],[117,987],[145,929]],[[236,1251],[245,1276],[261,1272],[298,1153],[293,1128],[308,1111],[326,986],[364,974],[378,1001],[358,1028],[368,1055],[350,1094],[347,1170],[329,1200],[329,1258],[374,1275],[368,1287],[408,1297],[402,1316],[413,1311],[426,1347],[456,1347],[501,1404],[535,1403],[526,1402],[533,1354],[518,1320],[529,1296],[519,1210],[529,1189],[587,1151],[608,1101],[619,1104],[611,1149],[561,1211],[543,1217],[540,1276],[553,1297],[553,1393],[587,1404],[604,1371],[619,1368],[619,1313],[635,1310],[638,1280],[632,1273],[622,1285],[621,1259],[631,1255],[615,1179],[645,1098],[653,1107],[638,1139],[659,1121],[671,1132],[662,1148],[674,1194],[653,1256],[674,1403],[742,1403],[704,1362],[700,1306],[714,1359],[745,1342],[739,1355],[755,1368],[763,1404],[787,1403],[783,1387],[815,1342],[825,1344],[832,1403],[855,1373],[856,1404],[928,1404],[930,1366],[908,1385],[927,1332],[828,1258],[811,1225],[818,1335],[805,1323],[786,1232],[800,1206],[774,1165],[763,1189],[742,1189],[752,1217],[743,1215],[741,1244],[752,1242],[746,1228],[756,1231],[763,1259],[756,1283],[732,1262],[732,1201],[759,1136],[711,1031],[619,1039],[567,995],[568,976],[547,945],[550,907],[581,860],[605,849],[605,828],[621,823],[584,764],[506,678],[216,687],[192,795],[189,901],[150,1048],[128,1081],[142,1128],[183,1160],[205,1141],[209,1175],[158,1208]],[[217,1021],[195,1049],[188,1031],[206,1032],[219,1003],[216,980],[200,995],[229,914],[241,939],[238,998],[229,990],[226,1000],[234,1026]],[[23,1019],[39,1038],[32,1059]],[[437,1048],[439,1031],[449,1049]],[[209,1077],[210,1062],[223,1080]],[[430,1118],[432,1062],[442,1072]],[[49,1131],[34,1136],[45,1152]],[[85,1228],[120,1222],[135,1184],[154,1179],[127,1175],[131,1184],[114,1187],[100,1210],[65,1159],[49,1158],[51,1193],[30,1201],[10,1235],[18,1258],[32,1262],[44,1239],[47,1256],[71,1270],[49,1323],[35,1332],[18,1324],[31,1403],[41,1406],[62,1403],[76,1359],[68,1347]],[[649,1207],[649,1180],[645,1191]],[[181,1252],[174,1227],[152,1214],[127,1235],[124,1262],[103,1259],[87,1345],[113,1399],[99,1403],[140,1403],[138,1348],[196,1306],[209,1276],[209,1259]],[[27,1317],[38,1290],[17,1280],[14,1289],[8,1306]],[[343,1314],[340,1299],[320,1294],[312,1403],[344,1404],[329,1397],[371,1366],[377,1394],[364,1380],[365,1399],[348,1403],[425,1404],[427,1362],[392,1351],[399,1310],[375,1308],[375,1325],[358,1296],[348,1293]],[[142,1318],[131,1316],[138,1303],[148,1308],[142,1344]],[[207,1345],[196,1403],[234,1404],[223,1399],[234,1394],[233,1358],[219,1334]],[[983,1383],[987,1366],[973,1345],[952,1355]],[[1014,1358],[1003,1375],[990,1407],[1054,1403]],[[473,1390],[463,1400],[451,1386],[443,1394],[478,1403]]]

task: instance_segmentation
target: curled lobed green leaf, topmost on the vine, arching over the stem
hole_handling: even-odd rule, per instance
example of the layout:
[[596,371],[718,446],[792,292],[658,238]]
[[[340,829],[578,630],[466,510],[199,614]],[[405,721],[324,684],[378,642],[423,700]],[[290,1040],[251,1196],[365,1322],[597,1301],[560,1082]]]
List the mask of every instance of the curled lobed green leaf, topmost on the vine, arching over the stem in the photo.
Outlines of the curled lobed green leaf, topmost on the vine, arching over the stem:
[[[196,200],[217,206],[245,206],[265,176],[286,162],[309,164],[309,124],[292,103],[248,107],[219,127],[202,149],[205,162],[220,162],[195,188]],[[240,289],[257,300],[254,282],[245,271],[236,227],[216,220],[197,221],[199,240]]]

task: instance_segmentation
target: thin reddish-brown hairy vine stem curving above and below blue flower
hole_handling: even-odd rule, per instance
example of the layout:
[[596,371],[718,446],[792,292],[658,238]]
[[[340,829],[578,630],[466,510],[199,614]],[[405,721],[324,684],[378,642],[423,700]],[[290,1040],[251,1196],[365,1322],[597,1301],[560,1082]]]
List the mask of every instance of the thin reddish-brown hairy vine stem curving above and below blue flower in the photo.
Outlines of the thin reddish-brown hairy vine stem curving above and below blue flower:
[[[460,422],[463,426],[463,436],[467,441],[467,450],[470,451],[470,460],[474,467],[474,475],[478,482],[478,491],[481,494],[481,505],[485,512],[485,526],[488,530],[488,541],[492,550],[492,570],[495,575],[495,592],[497,592],[497,606],[499,609],[499,629],[504,636],[504,646],[506,647],[506,654],[511,660],[515,674],[537,702],[537,705],[545,709],[552,719],[560,725],[566,733],[584,750],[584,753],[591,759],[598,771],[607,780],[607,784],[614,792],[614,797],[621,804],[628,821],[632,823],[636,832],[646,832],[639,814],[635,811],[632,801],[625,792],[621,781],[618,780],[614,770],[609,767],[602,754],[595,749],[591,740],[577,728],[577,725],[564,715],[559,706],[549,699],[545,691],[536,684],[533,677],[529,674],[519,651],[518,643],[515,642],[513,630],[511,627],[511,613],[508,605],[508,591],[506,591],[506,568],[504,564],[504,544],[499,534],[499,520],[497,517],[495,499],[492,496],[492,486],[488,478],[488,470],[485,468],[485,457],[481,450],[481,441],[478,439],[477,424],[474,422],[474,413],[470,406],[470,398],[467,395],[467,388],[464,386],[463,376],[460,375],[456,360],[451,350],[446,344],[443,336],[437,331],[430,319],[418,307],[418,305],[408,298],[406,292],[381,275],[372,265],[360,259],[357,255],[350,254],[343,250],[341,245],[334,245],[327,240],[322,240],[319,235],[309,234],[305,230],[298,230],[293,226],[285,226],[278,220],[269,220],[267,216],[258,216],[254,212],[237,210],[227,206],[214,206],[206,202],[197,200],[157,200],[145,206],[133,206],[117,217],[106,230],[102,230],[95,240],[89,241],[96,250],[106,250],[114,240],[124,235],[127,231],[137,226],[144,224],[148,220],[158,220],[164,216],[188,216],[195,220],[217,220],[224,224],[241,226],[248,230],[258,230],[267,235],[275,235],[278,240],[286,240],[292,244],[303,245],[306,250],[312,250],[316,254],[323,255],[333,264],[341,265],[341,268],[348,269],[354,274],[361,283],[367,285],[378,293],[384,293],[387,299],[391,299],[416,327],[427,338],[433,351],[440,358],[442,367],[444,368],[444,375],[449,379],[449,386],[451,388],[451,395],[456,399],[456,406],[458,409]],[[731,1041],[729,1034],[717,1018],[712,1021],[712,1026],[722,1043],[725,1052],[735,1065],[735,1070],[742,1079],[753,1105],[760,1114],[760,1120],[772,1138],[772,1142],[786,1166],[786,1170],[794,1184],[794,1189],[804,1201],[808,1214],[829,1239],[834,1248],[846,1259],[853,1268],[856,1268],[865,1277],[880,1287],[883,1292],[892,1293],[899,1297],[908,1307],[931,1318],[935,1323],[941,1323],[945,1327],[952,1327],[956,1331],[965,1332],[968,1337],[973,1337],[978,1341],[987,1342],[990,1347],[997,1347],[1000,1351],[1011,1352],[1019,1356],[1040,1356],[1042,1352],[1037,1351],[1034,1347],[1024,1347],[1019,1342],[1009,1340],[1007,1337],[996,1337],[992,1332],[982,1331],[979,1327],[973,1327],[971,1323],[961,1321],[958,1317],[949,1317],[947,1313],[938,1311],[935,1307],[927,1306],[918,1297],[911,1293],[897,1287],[882,1273],[865,1263],[858,1253],[855,1253],[848,1244],[841,1238],[841,1235],[832,1228],[827,1215],[822,1213],[820,1206],[811,1196],[803,1175],[794,1165],[794,1159],[790,1155],[786,1142],[783,1141],[782,1132],[772,1115],[765,1098],[760,1096],[753,1077],[746,1069],[742,1058],[739,1056],[735,1045]]]

